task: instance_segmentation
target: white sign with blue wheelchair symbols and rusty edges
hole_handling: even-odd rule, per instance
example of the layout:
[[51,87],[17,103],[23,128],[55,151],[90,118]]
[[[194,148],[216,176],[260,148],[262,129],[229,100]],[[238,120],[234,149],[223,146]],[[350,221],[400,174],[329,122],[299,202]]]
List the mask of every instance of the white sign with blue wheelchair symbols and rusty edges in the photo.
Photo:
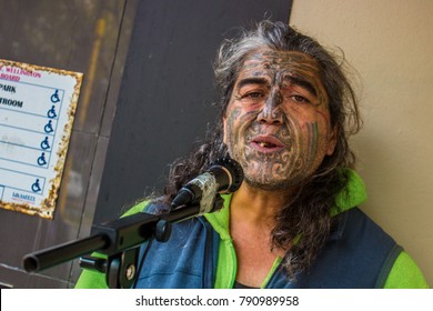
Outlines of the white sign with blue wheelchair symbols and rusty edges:
[[81,82],[0,60],[0,208],[53,218]]

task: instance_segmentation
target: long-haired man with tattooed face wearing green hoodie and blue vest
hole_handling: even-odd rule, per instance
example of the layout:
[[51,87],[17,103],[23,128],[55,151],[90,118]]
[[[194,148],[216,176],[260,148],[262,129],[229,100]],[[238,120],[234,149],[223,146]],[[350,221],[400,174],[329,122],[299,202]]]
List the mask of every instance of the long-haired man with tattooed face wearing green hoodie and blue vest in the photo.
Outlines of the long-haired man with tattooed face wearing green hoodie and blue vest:
[[[356,98],[315,40],[263,21],[218,54],[221,118],[213,137],[172,165],[164,210],[179,189],[231,157],[244,172],[222,210],[174,224],[143,247],[138,288],[426,288],[413,260],[356,205],[364,185],[348,138]],[[104,287],[84,272],[77,287]]]

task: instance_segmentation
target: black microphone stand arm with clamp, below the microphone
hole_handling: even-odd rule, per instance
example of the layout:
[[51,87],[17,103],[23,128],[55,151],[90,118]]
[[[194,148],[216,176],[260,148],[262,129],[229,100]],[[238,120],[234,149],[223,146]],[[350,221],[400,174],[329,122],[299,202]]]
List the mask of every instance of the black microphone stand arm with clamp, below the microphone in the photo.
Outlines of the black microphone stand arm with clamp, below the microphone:
[[[213,210],[221,205],[221,198],[216,195]],[[140,212],[95,224],[92,225],[89,238],[27,254],[22,265],[27,272],[36,272],[98,251],[105,254],[107,259],[85,257],[81,258],[80,265],[104,272],[109,288],[128,289],[133,285],[139,272],[137,263],[140,245],[152,237],[161,242],[168,241],[172,222],[180,222],[199,213],[200,204],[194,203],[163,214]]]

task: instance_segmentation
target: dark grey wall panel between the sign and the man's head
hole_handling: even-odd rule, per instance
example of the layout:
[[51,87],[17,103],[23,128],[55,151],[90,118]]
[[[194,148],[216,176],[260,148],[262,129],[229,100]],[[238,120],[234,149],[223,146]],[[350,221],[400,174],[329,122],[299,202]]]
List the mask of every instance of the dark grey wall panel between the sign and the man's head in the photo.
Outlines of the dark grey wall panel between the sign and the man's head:
[[289,22],[292,1],[143,0],[138,8],[93,223],[161,190],[168,164],[215,119],[212,62],[240,26]]

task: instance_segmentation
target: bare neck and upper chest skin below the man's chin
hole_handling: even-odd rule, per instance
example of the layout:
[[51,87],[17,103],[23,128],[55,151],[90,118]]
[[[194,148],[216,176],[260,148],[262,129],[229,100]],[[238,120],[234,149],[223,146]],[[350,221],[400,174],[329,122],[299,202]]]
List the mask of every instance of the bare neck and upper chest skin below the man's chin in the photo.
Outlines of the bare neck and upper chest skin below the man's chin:
[[243,183],[230,202],[230,233],[236,252],[236,280],[259,288],[285,250],[272,247],[275,214],[288,193],[263,191]]

